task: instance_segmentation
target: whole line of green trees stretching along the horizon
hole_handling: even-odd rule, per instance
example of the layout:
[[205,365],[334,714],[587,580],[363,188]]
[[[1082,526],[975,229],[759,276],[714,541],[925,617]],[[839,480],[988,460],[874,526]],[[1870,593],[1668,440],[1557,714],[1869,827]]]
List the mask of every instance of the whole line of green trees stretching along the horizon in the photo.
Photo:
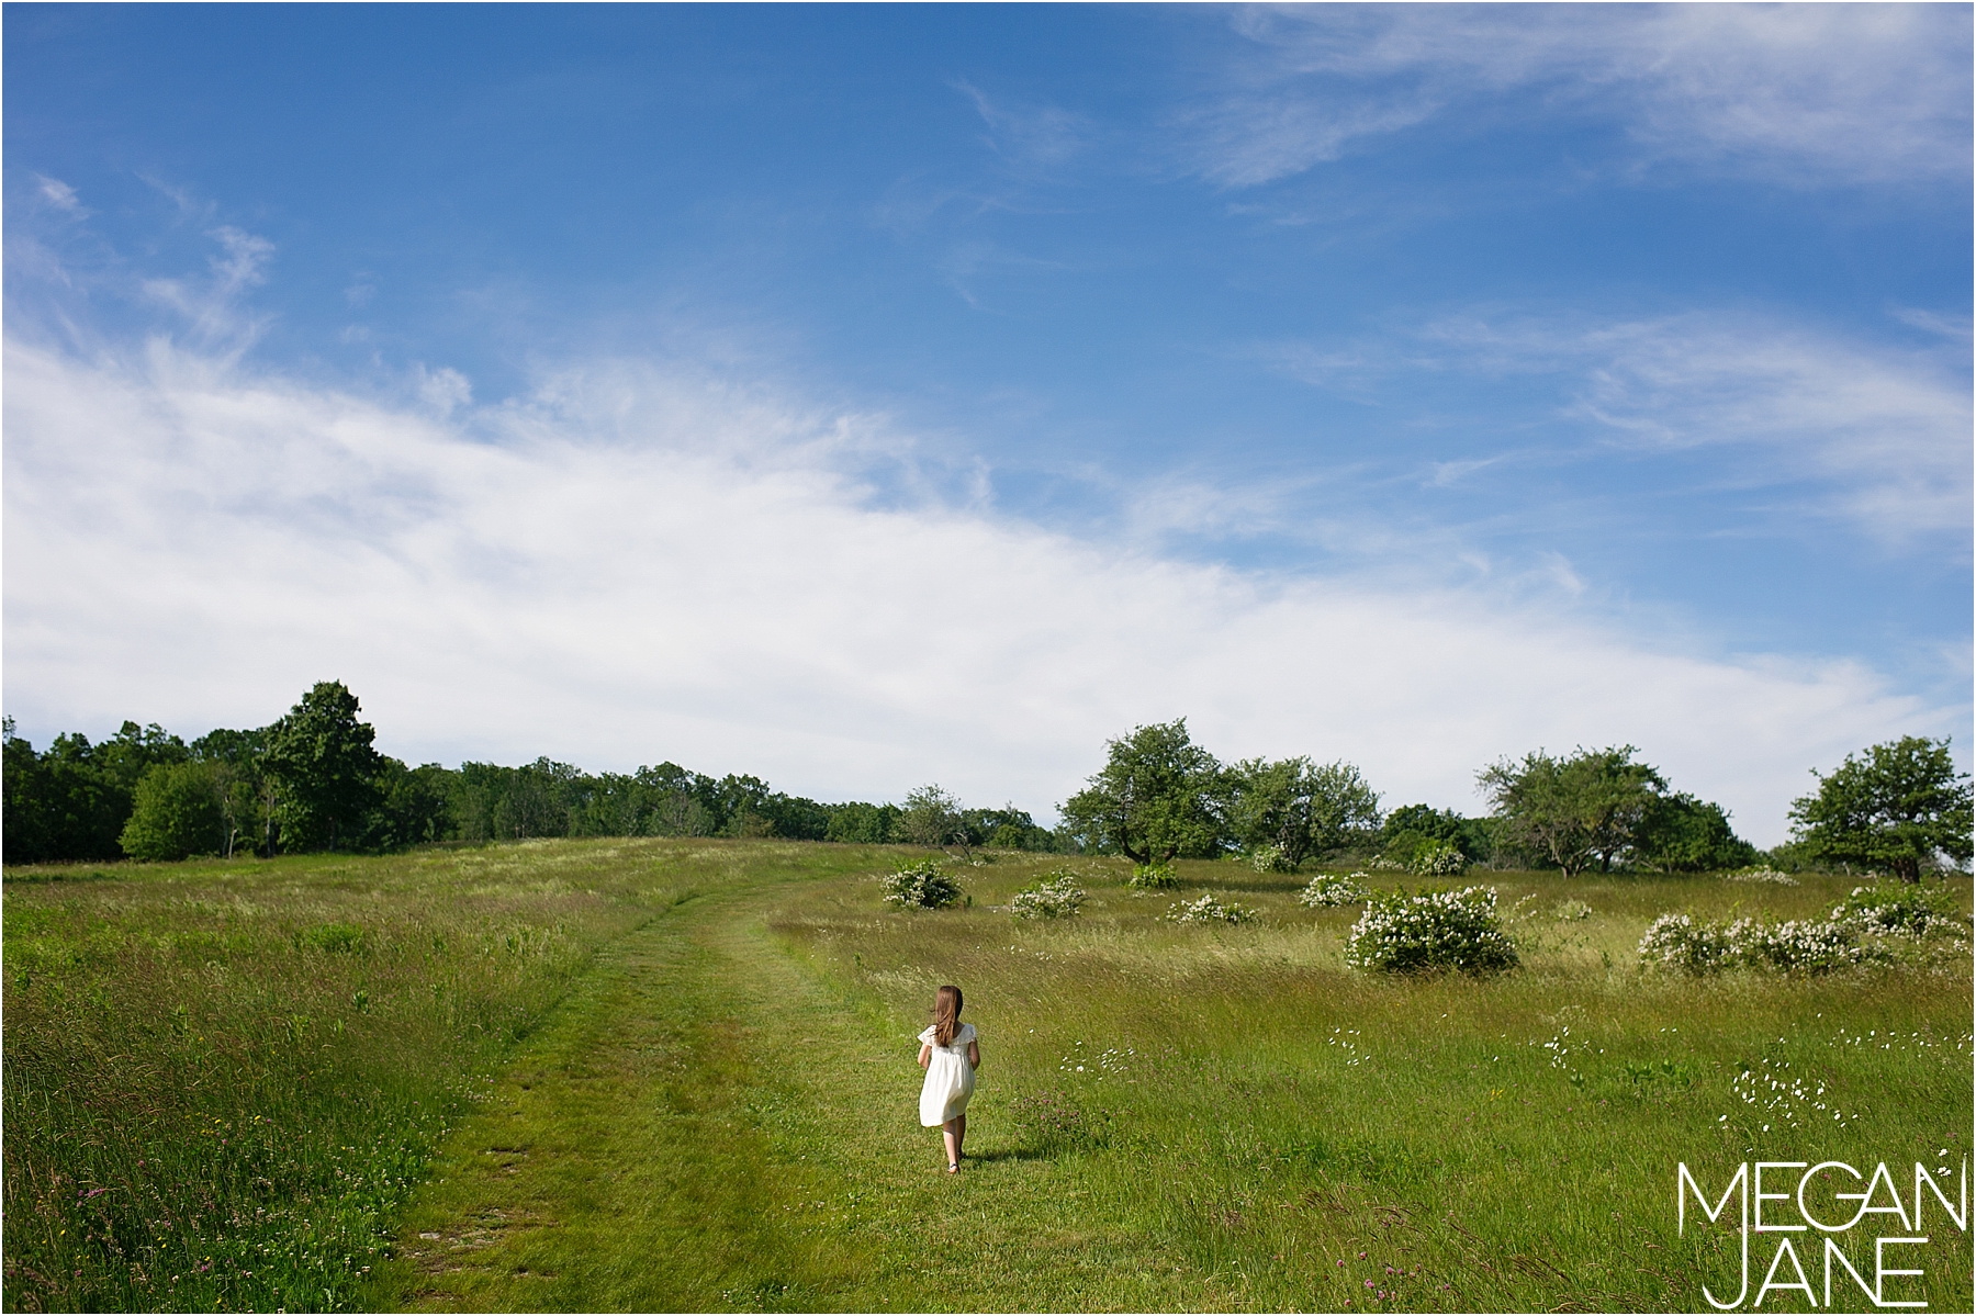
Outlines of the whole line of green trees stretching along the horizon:
[[1676,790],[1632,745],[1502,759],[1476,777],[1490,814],[1466,818],[1429,804],[1381,810],[1344,761],[1221,763],[1182,717],[1109,741],[1105,767],[1059,806],[1061,824],[1043,828],[1014,804],[966,808],[937,784],[903,804],[822,804],[759,777],[715,779],[676,763],[595,775],[551,759],[407,767],[377,753],[360,713],[342,682],[320,682],[267,727],[190,743],[126,721],[97,745],[73,733],[36,751],[6,719],[4,860],[383,852],[545,836],[781,836],[1118,854],[1140,865],[1249,858],[1280,871],[1352,856],[1427,873],[1472,864],[1684,873],[1769,862],[1915,879],[1970,860],[1968,777],[1956,775],[1946,739],[1925,737],[1848,755],[1790,806],[1792,842],[1763,854],[1735,834],[1725,808]]

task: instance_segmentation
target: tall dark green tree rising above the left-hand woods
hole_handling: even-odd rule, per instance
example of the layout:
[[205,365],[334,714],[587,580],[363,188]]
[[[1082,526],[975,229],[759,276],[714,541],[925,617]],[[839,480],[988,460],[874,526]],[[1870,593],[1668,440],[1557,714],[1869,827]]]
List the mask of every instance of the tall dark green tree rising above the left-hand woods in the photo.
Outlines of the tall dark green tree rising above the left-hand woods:
[[334,850],[362,836],[377,806],[377,733],[342,682],[318,682],[269,727],[261,767],[273,784],[273,826],[285,850]]

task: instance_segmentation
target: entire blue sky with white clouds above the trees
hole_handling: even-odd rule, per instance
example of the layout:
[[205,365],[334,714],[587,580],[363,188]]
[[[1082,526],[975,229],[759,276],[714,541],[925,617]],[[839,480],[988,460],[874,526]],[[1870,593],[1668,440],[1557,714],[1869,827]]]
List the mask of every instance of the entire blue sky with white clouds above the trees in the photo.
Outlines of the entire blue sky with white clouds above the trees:
[[[6,8],[6,705],[1782,836],[1970,725],[1970,10]],[[1966,759],[1964,759],[1966,761]]]

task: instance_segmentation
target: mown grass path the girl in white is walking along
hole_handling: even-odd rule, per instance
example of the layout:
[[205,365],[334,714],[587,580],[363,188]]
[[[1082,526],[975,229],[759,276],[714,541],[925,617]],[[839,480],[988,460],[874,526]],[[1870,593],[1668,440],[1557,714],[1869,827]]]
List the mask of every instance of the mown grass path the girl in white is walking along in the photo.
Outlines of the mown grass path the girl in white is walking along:
[[992,1124],[947,1176],[909,1028],[808,972],[769,891],[686,899],[601,956],[449,1140],[375,1304],[917,1310],[1004,1306],[1012,1284],[1215,1304]]

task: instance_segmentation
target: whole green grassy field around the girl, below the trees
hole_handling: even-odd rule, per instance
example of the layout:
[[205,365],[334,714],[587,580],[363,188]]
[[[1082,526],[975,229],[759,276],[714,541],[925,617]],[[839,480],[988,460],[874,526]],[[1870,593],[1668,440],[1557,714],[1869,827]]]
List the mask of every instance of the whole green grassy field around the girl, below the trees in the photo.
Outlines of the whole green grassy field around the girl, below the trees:
[[[1018,923],[994,907],[1063,860],[895,913],[905,854],[10,871],[6,1308],[1707,1310],[1735,1235],[1676,1237],[1678,1162],[1719,1193],[1745,1160],[1899,1182],[1970,1150],[1966,960],[1636,966],[1662,911],[1816,915],[1850,879],[1478,873],[1523,968],[1393,980],[1304,877],[1142,895],[1069,860],[1085,915]],[[1263,919],[1160,921],[1199,891]],[[984,1051],[960,1176],[915,1110],[941,982]],[[1968,1233],[1929,1223],[1887,1296],[1968,1310]]]

